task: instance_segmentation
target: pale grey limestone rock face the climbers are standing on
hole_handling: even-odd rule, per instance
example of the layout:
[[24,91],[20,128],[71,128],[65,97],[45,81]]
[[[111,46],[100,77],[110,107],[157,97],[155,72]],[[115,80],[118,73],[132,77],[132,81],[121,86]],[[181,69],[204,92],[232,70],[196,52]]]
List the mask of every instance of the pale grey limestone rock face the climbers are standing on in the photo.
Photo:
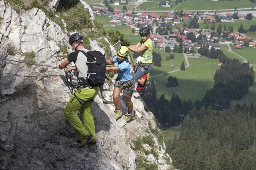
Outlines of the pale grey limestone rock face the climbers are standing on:
[[[0,0],[0,16],[0,58],[24,61],[34,51],[37,64],[56,67],[64,60],[58,44],[68,45],[68,37],[40,9],[17,14]],[[92,50],[104,52],[95,43],[91,41]],[[77,135],[63,114],[71,95],[64,71],[8,60],[0,60],[0,169],[134,170],[139,154],[158,169],[171,168],[164,144],[149,130],[149,122],[156,126],[154,116],[144,110],[138,93],[132,97],[137,118],[116,121],[113,82],[104,84],[91,109],[97,146],[78,149]],[[146,135],[152,136],[158,157],[132,149],[133,141]]]

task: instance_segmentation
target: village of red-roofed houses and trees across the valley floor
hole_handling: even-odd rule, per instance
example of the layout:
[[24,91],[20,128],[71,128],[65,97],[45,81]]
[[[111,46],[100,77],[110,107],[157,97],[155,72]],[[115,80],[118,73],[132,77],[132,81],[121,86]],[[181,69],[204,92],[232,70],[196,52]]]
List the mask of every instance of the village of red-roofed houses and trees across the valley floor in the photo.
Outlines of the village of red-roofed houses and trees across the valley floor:
[[[160,2],[159,5],[171,6],[171,2]],[[124,25],[133,29],[134,34],[143,26],[148,26],[152,30],[150,39],[155,48],[159,50],[174,50],[182,43],[182,48],[185,53],[195,53],[195,49],[202,46],[207,46],[209,50],[220,49],[221,43],[234,45],[234,49],[241,49],[243,46],[256,47],[256,42],[251,37],[245,37],[234,30],[222,28],[221,31],[215,28],[199,29],[196,24],[215,23],[216,27],[219,23],[231,23],[235,19],[246,20],[250,16],[255,17],[248,12],[247,15],[240,13],[224,14],[209,14],[208,12],[197,13],[177,11],[176,13],[164,13],[162,16],[156,13],[135,13],[115,10],[109,12],[107,9],[92,8],[97,15],[107,15],[112,17],[110,26]],[[123,13],[122,13],[123,12]],[[249,18],[249,19],[251,19]],[[194,21],[193,21],[194,20]],[[184,22],[187,21],[187,22]],[[183,26],[178,27],[178,24],[184,22]],[[193,24],[191,24],[193,23]],[[190,26],[189,26],[190,24]],[[190,28],[189,28],[190,27]],[[197,27],[197,28],[196,28]],[[173,29],[172,29],[173,28]],[[174,29],[176,28],[176,29]]]

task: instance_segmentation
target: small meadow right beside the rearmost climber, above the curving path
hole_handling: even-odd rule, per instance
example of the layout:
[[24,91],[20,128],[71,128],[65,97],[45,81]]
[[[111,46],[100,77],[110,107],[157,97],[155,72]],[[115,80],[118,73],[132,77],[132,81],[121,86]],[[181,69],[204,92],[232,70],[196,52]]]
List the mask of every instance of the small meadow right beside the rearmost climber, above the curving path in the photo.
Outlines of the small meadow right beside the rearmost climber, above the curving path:
[[[165,52],[163,50],[158,50],[155,48],[154,51],[161,55],[162,62],[161,67],[155,66],[153,68],[153,70],[151,71],[152,76],[177,70],[180,68],[182,61],[185,62],[183,54],[174,53],[174,59],[166,60],[166,57],[170,56],[171,53]],[[170,65],[174,65],[174,68],[171,68]]]

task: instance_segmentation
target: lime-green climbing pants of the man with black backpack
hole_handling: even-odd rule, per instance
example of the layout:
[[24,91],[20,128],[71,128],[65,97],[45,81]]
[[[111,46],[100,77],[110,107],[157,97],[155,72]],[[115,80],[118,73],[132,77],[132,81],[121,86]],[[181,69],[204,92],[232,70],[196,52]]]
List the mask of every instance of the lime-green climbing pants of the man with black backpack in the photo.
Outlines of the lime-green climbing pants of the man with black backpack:
[[[84,89],[76,90],[75,95],[85,101],[82,104],[78,99],[72,95],[67,103],[67,106],[64,110],[65,118],[69,121],[70,125],[77,131],[80,138],[83,136],[88,136],[89,133],[92,134],[92,140],[96,139],[95,126],[93,115],[91,114],[91,106],[93,104],[93,99],[99,92],[99,87],[93,87],[90,89],[86,87]],[[80,118],[77,116],[77,111],[79,110],[80,115],[83,118],[83,123]]]

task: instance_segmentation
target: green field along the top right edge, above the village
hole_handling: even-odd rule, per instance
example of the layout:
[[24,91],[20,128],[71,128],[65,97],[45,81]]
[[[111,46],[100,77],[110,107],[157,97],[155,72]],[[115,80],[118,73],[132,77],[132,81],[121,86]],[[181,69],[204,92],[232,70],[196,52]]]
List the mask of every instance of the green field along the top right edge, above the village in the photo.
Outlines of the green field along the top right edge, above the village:
[[212,1],[212,0],[186,0],[176,10],[220,10],[255,7],[256,3],[250,0]]

